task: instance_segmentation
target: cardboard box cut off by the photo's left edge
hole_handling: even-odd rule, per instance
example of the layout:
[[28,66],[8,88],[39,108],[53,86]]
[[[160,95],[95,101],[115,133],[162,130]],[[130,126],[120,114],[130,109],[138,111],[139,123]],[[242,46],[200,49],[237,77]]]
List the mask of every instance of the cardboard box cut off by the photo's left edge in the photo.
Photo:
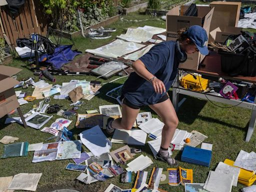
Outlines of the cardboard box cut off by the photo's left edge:
[[11,77],[19,71],[19,68],[0,65],[0,118],[19,107],[13,88],[19,81]]

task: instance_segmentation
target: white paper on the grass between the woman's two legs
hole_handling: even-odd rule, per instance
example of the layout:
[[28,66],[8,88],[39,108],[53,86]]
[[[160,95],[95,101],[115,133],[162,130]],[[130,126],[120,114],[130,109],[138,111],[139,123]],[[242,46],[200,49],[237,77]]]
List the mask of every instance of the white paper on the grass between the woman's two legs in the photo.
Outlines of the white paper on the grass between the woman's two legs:
[[138,125],[140,129],[145,131],[146,133],[150,133],[153,131],[156,131],[158,129],[162,129],[164,123],[161,122],[158,118],[152,118],[149,119],[148,121]]

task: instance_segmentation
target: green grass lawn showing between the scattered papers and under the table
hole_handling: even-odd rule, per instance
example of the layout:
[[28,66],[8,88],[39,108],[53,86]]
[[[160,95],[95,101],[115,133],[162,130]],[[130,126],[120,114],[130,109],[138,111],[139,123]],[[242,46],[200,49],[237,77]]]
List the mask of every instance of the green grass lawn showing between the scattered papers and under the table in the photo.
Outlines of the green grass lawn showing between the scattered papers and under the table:
[[[82,52],[86,48],[96,48],[103,44],[106,44],[113,39],[116,35],[123,32],[123,28],[129,26],[144,26],[152,25],[157,27],[165,28],[165,21],[160,20],[158,17],[151,17],[149,15],[143,15],[138,13],[128,14],[123,16],[124,19],[133,20],[133,21],[117,21],[109,27],[115,27],[116,32],[112,33],[112,38],[97,40],[89,39],[83,37],[74,38],[75,46]],[[142,20],[137,21],[136,20]],[[23,62],[19,59],[14,59],[10,66],[22,68],[23,70],[18,73],[17,79],[27,78],[33,76],[32,71],[29,70],[29,66],[26,62]],[[108,80],[114,79],[112,77]],[[95,80],[95,76],[56,76],[56,83],[61,84],[62,82],[68,82],[71,79],[86,79],[86,80]],[[35,77],[35,81],[38,80],[38,77]],[[101,79],[100,79],[101,80]],[[105,82],[105,80],[101,80]],[[105,84],[100,89],[100,94],[96,95],[90,101],[84,100],[84,103],[78,109],[78,113],[85,113],[85,110],[89,109],[98,109],[99,105],[104,104],[116,104],[117,102],[110,97],[106,97],[105,93],[110,89],[122,84],[125,81],[125,78],[115,81],[113,83]],[[15,90],[21,90],[17,88]],[[26,91],[28,95],[32,94],[33,89],[29,87],[28,89],[22,89]],[[171,94],[171,90],[169,91]],[[53,96],[51,96],[52,98]],[[32,108],[33,104],[38,104],[40,100],[35,100],[29,102],[28,104],[22,105],[22,112],[25,113]],[[62,108],[70,108],[70,102],[68,100],[55,100],[51,99],[50,104],[58,103],[59,105],[64,105]],[[221,103],[217,103],[221,106],[227,106]],[[151,111],[153,117],[158,117],[152,110],[148,107],[141,108],[141,111]],[[249,142],[245,142],[245,136],[247,132],[248,121],[250,119],[251,110],[243,109],[240,107],[232,108],[221,108],[211,104],[208,101],[197,99],[194,97],[187,96],[186,101],[182,104],[180,110],[177,112],[179,118],[179,129],[184,129],[187,131],[197,130],[205,135],[208,138],[205,142],[213,143],[212,149],[212,159],[210,167],[204,167],[194,164],[189,164],[179,161],[179,165],[184,168],[193,169],[193,181],[197,183],[204,182],[208,171],[214,170],[219,161],[223,161],[225,158],[235,160],[240,149],[243,149],[247,152],[252,150],[255,151],[256,147],[256,133],[254,133]],[[59,118],[57,115],[53,115],[53,118],[46,124],[49,126],[56,118]],[[24,128],[23,126],[12,123],[5,125],[5,118],[0,119],[0,138],[4,135],[11,135],[14,137],[19,137],[18,141],[28,141],[29,143],[37,142],[54,142],[54,139],[49,141],[44,141],[46,138],[51,136],[51,134],[40,132],[33,128]],[[78,138],[78,133],[83,129],[76,129],[74,127],[76,117],[71,118],[72,123],[68,126],[68,129],[71,130],[74,134],[74,139]],[[114,143],[112,150],[123,146],[123,144]],[[149,156],[154,164],[146,168],[145,171],[148,171],[147,182],[151,173],[153,166],[162,167],[166,170],[168,168],[167,164],[157,161],[152,156],[149,146],[145,144],[142,148],[142,154]],[[82,150],[88,151],[84,146]],[[3,152],[3,144],[0,143],[0,154]],[[140,153],[138,154],[140,155]],[[137,156],[138,156],[137,155]],[[174,151],[173,157],[180,160],[180,151]],[[89,185],[82,184],[75,180],[75,178],[80,174],[77,171],[66,170],[65,166],[69,162],[73,162],[71,159],[67,160],[55,160],[55,161],[44,161],[39,163],[31,163],[33,157],[33,152],[29,152],[25,157],[13,157],[7,159],[0,159],[0,176],[10,176],[20,172],[34,173],[41,172],[42,177],[39,181],[37,190],[38,191],[49,191],[56,187],[74,187],[80,191],[104,191],[104,189],[110,184],[113,183],[123,189],[132,188],[135,181],[135,174],[132,174],[131,183],[121,183],[120,176],[112,177],[104,182],[98,181],[91,183]],[[123,166],[124,168],[126,166]],[[232,187],[232,191],[239,191],[244,185],[238,184],[237,187]],[[160,185],[160,188],[167,191],[184,191],[184,186],[169,186],[169,185]]]

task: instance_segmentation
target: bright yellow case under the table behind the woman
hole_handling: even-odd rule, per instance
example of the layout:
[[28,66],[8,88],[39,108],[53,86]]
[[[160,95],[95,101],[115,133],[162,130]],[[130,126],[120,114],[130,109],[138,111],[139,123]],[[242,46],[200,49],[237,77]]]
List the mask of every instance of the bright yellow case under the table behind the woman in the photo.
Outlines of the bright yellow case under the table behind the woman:
[[193,91],[205,90],[209,85],[209,80],[198,75],[194,76],[196,79],[194,79],[193,75],[191,74],[183,76],[180,82],[181,86],[183,86],[185,89],[191,89]]

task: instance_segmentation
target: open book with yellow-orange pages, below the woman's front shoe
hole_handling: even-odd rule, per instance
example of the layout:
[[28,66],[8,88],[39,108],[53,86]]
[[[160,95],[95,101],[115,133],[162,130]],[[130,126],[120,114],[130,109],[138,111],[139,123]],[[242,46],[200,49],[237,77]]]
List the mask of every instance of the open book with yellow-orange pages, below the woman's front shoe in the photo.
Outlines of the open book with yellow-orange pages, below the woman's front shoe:
[[180,183],[192,183],[193,182],[193,170],[187,168],[168,168],[169,185],[179,185]]

